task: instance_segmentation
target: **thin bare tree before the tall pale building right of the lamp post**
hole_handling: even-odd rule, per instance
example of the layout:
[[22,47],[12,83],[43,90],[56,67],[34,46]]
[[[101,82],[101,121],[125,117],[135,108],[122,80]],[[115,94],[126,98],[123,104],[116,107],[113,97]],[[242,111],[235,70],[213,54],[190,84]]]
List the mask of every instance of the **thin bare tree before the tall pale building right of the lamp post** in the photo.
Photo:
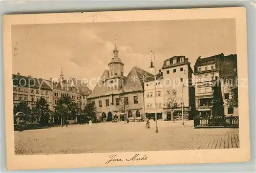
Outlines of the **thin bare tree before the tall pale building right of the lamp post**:
[[175,89],[169,89],[166,94],[168,97],[166,102],[164,102],[164,109],[167,113],[171,113],[175,122],[174,110],[178,107],[177,91]]

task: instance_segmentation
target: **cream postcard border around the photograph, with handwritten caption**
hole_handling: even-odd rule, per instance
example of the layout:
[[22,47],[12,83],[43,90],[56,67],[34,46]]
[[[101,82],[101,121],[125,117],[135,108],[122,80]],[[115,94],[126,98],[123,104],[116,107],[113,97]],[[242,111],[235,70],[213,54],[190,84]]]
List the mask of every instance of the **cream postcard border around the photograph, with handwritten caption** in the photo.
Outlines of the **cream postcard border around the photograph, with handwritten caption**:
[[239,89],[239,134],[240,148],[207,149],[207,150],[174,150],[161,152],[129,152],[116,153],[121,158],[129,158],[134,154],[146,154],[142,162],[113,162],[106,165],[109,155],[100,154],[68,154],[68,155],[23,155],[14,154],[13,133],[13,100],[12,100],[12,45],[11,26],[28,24],[63,24],[92,23],[113,21],[144,21],[144,20],[189,20],[189,19],[235,18],[237,31],[238,78],[248,79],[247,70],[247,39],[246,9],[233,8],[202,8],[179,10],[136,10],[108,11],[84,13],[49,13],[21,14],[3,16],[4,43],[4,86],[5,86],[5,120],[6,120],[6,154],[7,168],[14,169],[46,169],[46,168],[79,168],[109,167],[135,165],[166,165],[192,163],[245,162],[250,160],[249,142],[249,102],[248,80]]

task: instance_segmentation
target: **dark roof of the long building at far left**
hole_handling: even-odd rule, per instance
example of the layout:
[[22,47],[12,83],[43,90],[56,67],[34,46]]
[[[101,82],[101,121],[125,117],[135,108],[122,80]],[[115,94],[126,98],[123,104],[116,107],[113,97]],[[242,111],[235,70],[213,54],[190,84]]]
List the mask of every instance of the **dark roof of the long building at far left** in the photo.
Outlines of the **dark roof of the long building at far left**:
[[44,81],[44,79],[41,78],[33,78],[13,74],[12,79],[13,86],[22,85],[22,87],[30,87],[35,89],[39,89],[39,87],[41,87],[40,89],[42,90],[52,90],[51,87]]

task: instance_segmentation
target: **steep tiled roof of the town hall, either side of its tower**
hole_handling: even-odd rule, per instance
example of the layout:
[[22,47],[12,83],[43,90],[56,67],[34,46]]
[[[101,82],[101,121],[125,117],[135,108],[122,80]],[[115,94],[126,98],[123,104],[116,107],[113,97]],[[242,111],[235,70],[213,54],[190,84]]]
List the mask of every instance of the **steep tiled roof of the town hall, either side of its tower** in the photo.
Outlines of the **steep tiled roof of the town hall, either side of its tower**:
[[[118,91],[108,91],[108,86],[102,83],[102,80],[98,82],[93,92],[88,96],[88,98],[107,96],[111,94],[119,94],[124,92],[134,92],[143,90],[143,82],[147,77],[153,76],[137,66],[133,67],[130,73],[125,77],[123,88]],[[101,79],[109,78],[109,71],[105,70],[101,76]]]

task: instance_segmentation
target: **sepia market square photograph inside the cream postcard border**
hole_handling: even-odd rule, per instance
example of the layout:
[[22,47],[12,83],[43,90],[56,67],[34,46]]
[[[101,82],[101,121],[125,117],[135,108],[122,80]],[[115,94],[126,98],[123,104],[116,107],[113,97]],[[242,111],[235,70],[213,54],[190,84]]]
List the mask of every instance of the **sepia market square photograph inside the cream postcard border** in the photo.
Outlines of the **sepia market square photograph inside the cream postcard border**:
[[108,153],[102,164],[111,165],[147,161],[147,152],[239,149],[249,115],[237,22],[11,25],[14,155]]

